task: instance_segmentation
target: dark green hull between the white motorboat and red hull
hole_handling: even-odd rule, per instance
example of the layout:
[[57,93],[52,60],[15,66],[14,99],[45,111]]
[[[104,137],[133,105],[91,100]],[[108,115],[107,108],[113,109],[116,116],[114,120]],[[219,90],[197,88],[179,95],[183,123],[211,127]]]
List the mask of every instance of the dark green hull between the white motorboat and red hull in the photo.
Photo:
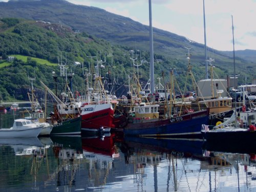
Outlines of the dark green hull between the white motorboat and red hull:
[[81,116],[54,124],[50,135],[81,134]]

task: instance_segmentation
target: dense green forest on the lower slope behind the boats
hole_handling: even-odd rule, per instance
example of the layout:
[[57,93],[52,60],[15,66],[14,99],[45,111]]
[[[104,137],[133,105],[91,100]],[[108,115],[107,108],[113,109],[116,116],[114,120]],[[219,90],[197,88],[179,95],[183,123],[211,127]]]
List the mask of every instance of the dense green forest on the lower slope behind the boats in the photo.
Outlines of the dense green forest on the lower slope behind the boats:
[[[11,55],[24,56],[8,62]],[[59,74],[60,63],[66,63],[69,73],[73,75],[73,88],[83,93],[85,90],[84,74],[95,73],[97,65],[100,75],[109,82],[116,83],[116,94],[126,94],[127,81],[135,71],[139,71],[142,87],[150,78],[149,53],[130,47],[111,45],[108,41],[96,38],[85,32],[76,32],[59,24],[42,21],[32,21],[17,18],[2,18],[0,20],[0,98],[1,100],[27,99],[26,94],[18,89],[31,86],[28,77],[35,77],[34,87],[42,88],[40,81],[50,89],[54,89],[52,72]],[[187,71],[186,53],[184,59],[170,59],[163,55],[155,54],[156,77],[165,73],[165,82],[168,82],[170,70],[175,69],[175,75],[184,89]],[[44,59],[52,65],[38,62]],[[193,72],[196,80],[204,78],[204,63],[193,63]],[[75,66],[74,62],[81,65]],[[135,63],[133,63],[135,62]],[[141,65],[141,66],[140,66]],[[137,67],[138,68],[137,68]],[[89,69],[90,67],[90,69]],[[219,77],[226,78],[226,69],[216,69]],[[187,90],[191,89],[187,84]],[[120,88],[121,87],[121,88]]]

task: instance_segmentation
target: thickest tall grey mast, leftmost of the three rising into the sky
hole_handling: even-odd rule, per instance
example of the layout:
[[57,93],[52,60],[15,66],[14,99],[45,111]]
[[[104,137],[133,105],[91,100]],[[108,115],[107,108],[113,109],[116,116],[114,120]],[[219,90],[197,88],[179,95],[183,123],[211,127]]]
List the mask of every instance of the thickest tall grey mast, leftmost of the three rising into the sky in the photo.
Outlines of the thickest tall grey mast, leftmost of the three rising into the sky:
[[154,51],[153,51],[153,27],[152,27],[152,8],[151,0],[148,0],[150,12],[150,91],[155,93],[155,77],[154,77]]

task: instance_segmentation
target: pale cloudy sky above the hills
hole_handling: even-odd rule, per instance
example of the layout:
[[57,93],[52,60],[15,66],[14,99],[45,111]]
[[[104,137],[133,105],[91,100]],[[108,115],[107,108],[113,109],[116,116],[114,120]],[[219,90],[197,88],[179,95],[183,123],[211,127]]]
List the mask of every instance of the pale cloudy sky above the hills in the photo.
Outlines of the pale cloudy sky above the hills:
[[[7,0],[0,0],[5,1]],[[148,0],[67,0],[130,17],[149,25]],[[232,51],[256,50],[256,0],[204,0],[206,44]],[[152,25],[204,44],[203,0],[152,0]]]

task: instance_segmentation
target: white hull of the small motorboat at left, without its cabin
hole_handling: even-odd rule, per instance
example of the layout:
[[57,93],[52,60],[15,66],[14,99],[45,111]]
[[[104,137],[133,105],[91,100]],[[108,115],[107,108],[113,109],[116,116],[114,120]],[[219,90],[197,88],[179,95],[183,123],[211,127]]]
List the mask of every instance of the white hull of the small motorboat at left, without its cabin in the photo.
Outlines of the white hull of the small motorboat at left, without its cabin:
[[23,129],[0,129],[0,138],[37,137],[41,130],[42,126]]

